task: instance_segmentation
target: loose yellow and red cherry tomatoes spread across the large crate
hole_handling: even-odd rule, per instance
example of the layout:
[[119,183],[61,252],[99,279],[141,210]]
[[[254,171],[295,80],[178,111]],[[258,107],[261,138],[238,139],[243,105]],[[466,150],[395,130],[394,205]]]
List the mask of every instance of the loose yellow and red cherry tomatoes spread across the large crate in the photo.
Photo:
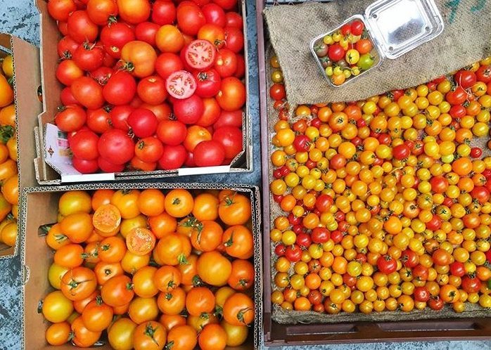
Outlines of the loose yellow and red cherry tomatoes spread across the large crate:
[[[491,307],[491,57],[366,101],[299,105],[276,58],[272,302],[346,313]],[[278,98],[279,97],[279,98]],[[485,144],[485,141],[481,142]]]

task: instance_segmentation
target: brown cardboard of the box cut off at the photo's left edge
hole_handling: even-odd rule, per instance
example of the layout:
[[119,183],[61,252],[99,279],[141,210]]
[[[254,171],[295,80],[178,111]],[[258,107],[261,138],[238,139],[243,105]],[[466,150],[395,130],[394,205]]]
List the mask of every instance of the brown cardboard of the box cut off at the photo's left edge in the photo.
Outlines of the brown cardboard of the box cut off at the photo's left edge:
[[[38,98],[41,86],[39,77],[39,50],[32,44],[10,34],[0,33],[0,57],[13,54],[15,115],[17,124],[19,187],[36,185],[34,159],[36,145],[32,130],[36,116],[42,111]],[[20,154],[22,153],[22,157]],[[17,254],[17,246],[0,243],[0,259]]]

